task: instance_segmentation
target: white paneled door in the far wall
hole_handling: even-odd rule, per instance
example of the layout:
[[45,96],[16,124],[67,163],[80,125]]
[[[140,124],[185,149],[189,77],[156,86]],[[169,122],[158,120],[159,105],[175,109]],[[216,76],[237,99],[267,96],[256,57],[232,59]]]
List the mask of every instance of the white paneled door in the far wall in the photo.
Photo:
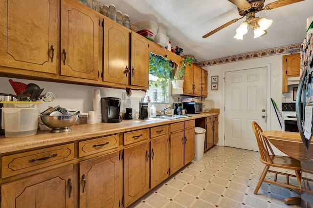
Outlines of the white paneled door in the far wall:
[[267,67],[225,72],[225,146],[259,151],[253,121],[267,130]]

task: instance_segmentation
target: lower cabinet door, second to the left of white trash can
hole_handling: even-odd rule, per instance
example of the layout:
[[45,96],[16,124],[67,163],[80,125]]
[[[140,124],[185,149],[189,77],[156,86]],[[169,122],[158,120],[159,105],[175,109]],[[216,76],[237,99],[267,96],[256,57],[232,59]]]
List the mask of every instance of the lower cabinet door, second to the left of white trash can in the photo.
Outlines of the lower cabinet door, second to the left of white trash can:
[[170,142],[170,166],[171,175],[184,166],[184,132],[171,134]]

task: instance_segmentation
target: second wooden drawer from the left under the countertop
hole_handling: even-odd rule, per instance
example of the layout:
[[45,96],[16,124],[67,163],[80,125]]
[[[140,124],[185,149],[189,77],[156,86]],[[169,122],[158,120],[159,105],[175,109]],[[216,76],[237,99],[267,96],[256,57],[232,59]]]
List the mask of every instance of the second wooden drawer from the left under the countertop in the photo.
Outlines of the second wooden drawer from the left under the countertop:
[[79,142],[79,157],[118,147],[118,134]]

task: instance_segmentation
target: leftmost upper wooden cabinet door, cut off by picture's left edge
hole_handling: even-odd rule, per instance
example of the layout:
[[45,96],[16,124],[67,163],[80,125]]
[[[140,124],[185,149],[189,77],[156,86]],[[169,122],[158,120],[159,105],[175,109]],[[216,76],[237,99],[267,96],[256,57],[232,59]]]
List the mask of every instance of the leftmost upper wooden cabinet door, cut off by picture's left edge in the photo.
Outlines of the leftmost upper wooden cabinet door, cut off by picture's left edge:
[[0,11],[0,65],[56,74],[57,0],[1,0]]

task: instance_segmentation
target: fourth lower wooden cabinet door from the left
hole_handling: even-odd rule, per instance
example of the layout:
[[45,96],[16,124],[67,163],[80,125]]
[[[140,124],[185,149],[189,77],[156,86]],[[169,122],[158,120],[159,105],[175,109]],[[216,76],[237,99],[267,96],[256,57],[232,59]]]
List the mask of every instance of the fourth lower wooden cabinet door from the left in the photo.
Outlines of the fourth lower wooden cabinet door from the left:
[[151,180],[150,188],[156,187],[167,179],[170,169],[170,154],[168,135],[151,141]]

